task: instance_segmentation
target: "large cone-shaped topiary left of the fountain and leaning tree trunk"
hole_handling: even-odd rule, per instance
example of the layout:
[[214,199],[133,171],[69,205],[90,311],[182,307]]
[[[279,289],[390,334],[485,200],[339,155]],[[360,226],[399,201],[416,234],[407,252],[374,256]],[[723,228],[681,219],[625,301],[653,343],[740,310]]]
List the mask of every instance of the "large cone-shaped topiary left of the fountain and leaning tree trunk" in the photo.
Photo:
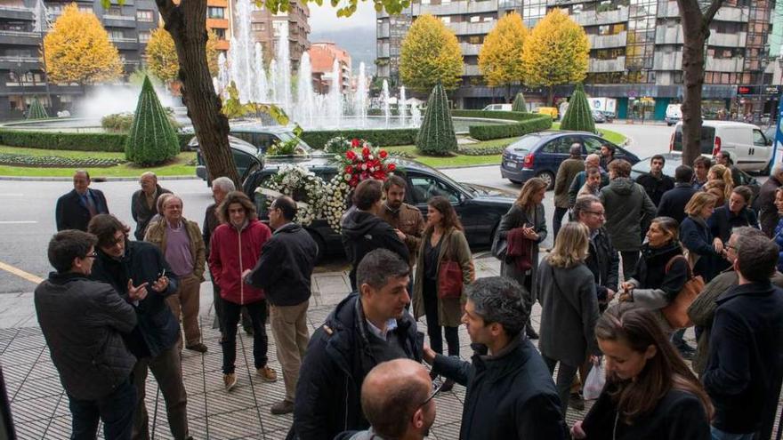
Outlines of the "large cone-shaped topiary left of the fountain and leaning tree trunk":
[[180,144],[174,128],[157,100],[149,77],[145,76],[133,124],[125,140],[125,158],[135,164],[149,166],[162,164],[179,152]]

